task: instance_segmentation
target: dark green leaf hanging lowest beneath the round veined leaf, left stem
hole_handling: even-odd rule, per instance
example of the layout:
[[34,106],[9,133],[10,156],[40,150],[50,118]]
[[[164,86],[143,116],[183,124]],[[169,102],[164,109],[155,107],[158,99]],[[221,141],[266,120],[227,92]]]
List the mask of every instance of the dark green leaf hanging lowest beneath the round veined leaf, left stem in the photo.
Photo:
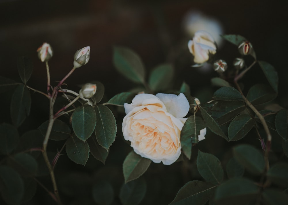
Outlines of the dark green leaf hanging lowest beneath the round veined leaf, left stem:
[[89,145],[75,136],[71,136],[66,143],[66,152],[69,159],[76,164],[84,165],[89,158]]

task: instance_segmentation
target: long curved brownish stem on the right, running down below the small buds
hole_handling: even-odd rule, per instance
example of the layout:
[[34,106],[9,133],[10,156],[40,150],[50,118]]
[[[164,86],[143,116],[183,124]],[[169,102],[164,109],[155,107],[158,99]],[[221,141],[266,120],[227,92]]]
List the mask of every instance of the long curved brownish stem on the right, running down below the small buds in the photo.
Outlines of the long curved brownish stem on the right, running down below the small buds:
[[263,115],[251,104],[251,102],[244,96],[239,84],[238,84],[238,80],[240,78],[243,77],[243,75],[256,63],[257,61],[255,60],[247,69],[245,69],[244,71],[242,71],[242,73],[240,73],[238,76],[236,76],[234,78],[234,83],[238,89],[238,91],[241,93],[242,97],[244,98],[246,105],[248,105],[248,107],[250,107],[252,109],[252,111],[257,115],[257,117],[259,117],[259,120],[261,121],[264,130],[266,132],[267,135],[267,142],[266,142],[266,149],[264,152],[264,159],[265,159],[265,164],[266,164],[266,171],[269,170],[269,160],[268,160],[268,155],[269,155],[269,151],[270,151],[270,146],[271,146],[271,140],[272,140],[272,136],[270,133],[270,130],[268,128],[268,125],[263,117]]

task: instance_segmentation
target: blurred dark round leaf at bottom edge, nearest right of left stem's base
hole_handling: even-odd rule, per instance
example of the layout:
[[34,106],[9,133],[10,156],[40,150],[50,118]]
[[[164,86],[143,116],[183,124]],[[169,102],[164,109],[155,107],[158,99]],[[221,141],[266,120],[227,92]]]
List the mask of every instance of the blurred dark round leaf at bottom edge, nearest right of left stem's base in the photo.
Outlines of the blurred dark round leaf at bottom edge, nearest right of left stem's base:
[[112,204],[114,200],[114,190],[108,181],[100,181],[93,185],[92,196],[97,204]]

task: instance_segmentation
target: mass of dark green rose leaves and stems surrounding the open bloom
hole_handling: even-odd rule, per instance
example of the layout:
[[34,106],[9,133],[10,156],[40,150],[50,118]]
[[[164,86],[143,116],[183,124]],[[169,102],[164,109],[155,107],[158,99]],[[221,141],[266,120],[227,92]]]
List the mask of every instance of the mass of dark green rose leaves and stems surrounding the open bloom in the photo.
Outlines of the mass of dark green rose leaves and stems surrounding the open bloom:
[[[247,41],[232,34],[223,38],[237,47]],[[212,99],[198,103],[191,96],[189,82],[181,81],[180,88],[173,85],[175,65],[163,63],[148,72],[137,53],[126,47],[113,48],[115,69],[139,84],[141,91],[183,93],[190,104],[181,130],[182,154],[169,166],[151,163],[124,142],[123,107],[137,91],[127,90],[108,99],[105,86],[94,81],[90,83],[96,85],[96,93],[84,98],[61,88],[73,67],[56,86],[50,84],[49,76],[44,93],[28,86],[33,64],[26,57],[19,58],[22,83],[0,76],[0,92],[11,93],[11,122],[0,124],[0,202],[37,203],[38,189],[48,193],[46,204],[50,200],[69,204],[74,199],[87,204],[153,204],[160,197],[155,193],[164,192],[175,196],[165,198],[167,204],[287,202],[288,110],[267,109],[278,95],[278,74],[269,63],[258,61],[255,53],[250,55],[254,61],[243,71],[231,67],[212,78],[211,84],[218,87]],[[243,89],[238,81],[256,63],[267,82]],[[46,68],[49,71],[48,61]],[[49,117],[38,129],[23,132],[33,106],[30,90],[48,98]],[[205,127],[206,139],[199,142]],[[68,170],[68,164],[75,171]]]

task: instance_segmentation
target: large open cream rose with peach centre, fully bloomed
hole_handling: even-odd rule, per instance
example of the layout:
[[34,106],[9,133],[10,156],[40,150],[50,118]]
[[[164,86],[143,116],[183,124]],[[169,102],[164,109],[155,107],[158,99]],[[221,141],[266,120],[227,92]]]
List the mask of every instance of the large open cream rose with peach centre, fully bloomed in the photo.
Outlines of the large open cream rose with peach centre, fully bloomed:
[[183,93],[138,94],[124,104],[123,136],[137,154],[170,165],[181,154],[180,133],[189,107]]

